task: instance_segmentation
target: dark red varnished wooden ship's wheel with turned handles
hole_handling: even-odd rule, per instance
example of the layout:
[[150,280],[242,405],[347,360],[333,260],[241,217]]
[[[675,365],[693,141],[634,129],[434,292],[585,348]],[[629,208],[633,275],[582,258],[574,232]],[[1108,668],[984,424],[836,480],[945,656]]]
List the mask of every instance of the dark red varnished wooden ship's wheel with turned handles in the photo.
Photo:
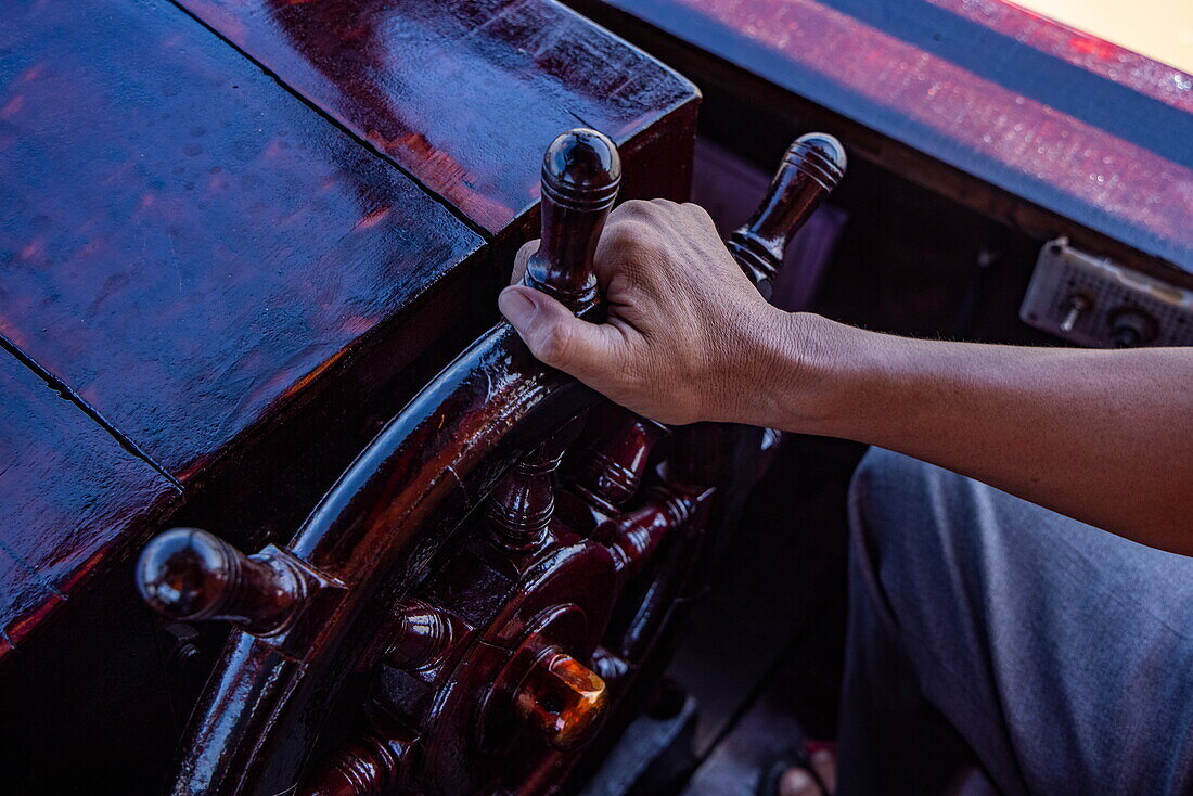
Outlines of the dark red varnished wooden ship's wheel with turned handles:
[[[843,165],[829,136],[792,144],[729,241],[755,282]],[[592,257],[619,180],[616,147],[592,130],[544,158],[526,279],[576,313],[600,313]],[[497,325],[286,545],[247,556],[173,529],[146,547],[150,606],[235,625],[173,792],[555,792],[641,709],[734,482],[727,451],[758,439],[636,416]]]

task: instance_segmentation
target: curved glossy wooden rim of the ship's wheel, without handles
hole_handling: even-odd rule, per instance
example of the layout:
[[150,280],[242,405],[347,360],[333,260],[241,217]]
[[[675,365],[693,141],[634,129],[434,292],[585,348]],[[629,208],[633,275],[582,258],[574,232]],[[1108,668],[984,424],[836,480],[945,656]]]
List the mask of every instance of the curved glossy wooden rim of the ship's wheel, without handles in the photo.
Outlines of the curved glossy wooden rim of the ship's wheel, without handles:
[[346,590],[311,600],[282,634],[233,634],[192,716],[177,792],[292,784],[329,695],[385,627],[390,604],[378,593],[408,588],[521,451],[595,400],[543,368],[505,323],[427,385],[288,544]]

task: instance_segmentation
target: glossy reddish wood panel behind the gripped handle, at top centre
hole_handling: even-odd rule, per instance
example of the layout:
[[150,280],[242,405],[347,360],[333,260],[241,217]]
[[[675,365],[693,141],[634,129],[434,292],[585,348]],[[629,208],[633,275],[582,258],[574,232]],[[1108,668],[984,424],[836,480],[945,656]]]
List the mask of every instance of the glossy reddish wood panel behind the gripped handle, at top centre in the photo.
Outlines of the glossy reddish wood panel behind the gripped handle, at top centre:
[[[180,2],[489,234],[533,209],[563,130],[663,129],[690,154],[694,87],[550,0]],[[686,191],[684,159],[667,169]],[[655,190],[674,195],[667,169]]]

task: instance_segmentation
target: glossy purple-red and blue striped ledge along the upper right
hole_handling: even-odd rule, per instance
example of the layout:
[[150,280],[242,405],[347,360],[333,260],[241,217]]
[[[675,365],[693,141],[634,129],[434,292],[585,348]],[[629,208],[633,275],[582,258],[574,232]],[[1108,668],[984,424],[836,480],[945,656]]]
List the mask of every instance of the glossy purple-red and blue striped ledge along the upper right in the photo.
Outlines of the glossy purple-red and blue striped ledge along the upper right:
[[573,5],[602,20],[618,10],[1193,271],[1193,76],[1172,67],[995,0]]

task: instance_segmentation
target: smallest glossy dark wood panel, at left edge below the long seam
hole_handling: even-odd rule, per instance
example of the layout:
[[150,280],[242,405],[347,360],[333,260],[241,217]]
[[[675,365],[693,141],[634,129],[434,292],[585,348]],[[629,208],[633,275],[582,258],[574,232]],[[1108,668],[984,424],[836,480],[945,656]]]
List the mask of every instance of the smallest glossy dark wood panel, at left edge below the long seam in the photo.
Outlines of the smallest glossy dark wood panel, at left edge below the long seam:
[[0,348],[0,664],[179,489]]

